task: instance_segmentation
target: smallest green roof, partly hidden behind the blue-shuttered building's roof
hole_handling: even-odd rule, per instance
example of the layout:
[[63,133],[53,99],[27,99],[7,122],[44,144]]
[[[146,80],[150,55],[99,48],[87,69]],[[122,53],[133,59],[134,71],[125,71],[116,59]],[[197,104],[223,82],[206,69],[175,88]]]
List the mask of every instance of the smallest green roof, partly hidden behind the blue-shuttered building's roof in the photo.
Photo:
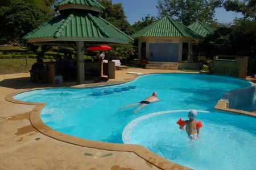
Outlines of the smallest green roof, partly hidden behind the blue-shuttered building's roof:
[[204,24],[199,20],[197,20],[195,23],[192,23],[188,27],[203,37],[214,32],[214,29],[212,27],[207,26],[207,24]]

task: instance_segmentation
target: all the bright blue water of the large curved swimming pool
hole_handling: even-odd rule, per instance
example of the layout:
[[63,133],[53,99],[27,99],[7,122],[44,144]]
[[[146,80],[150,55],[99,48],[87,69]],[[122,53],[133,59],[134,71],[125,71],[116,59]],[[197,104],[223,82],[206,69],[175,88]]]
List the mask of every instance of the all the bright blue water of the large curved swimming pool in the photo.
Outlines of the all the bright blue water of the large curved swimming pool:
[[[250,86],[237,78],[164,73],[100,88],[33,90],[14,98],[46,102],[41,116],[49,127],[80,138],[141,144],[156,154],[193,169],[254,169],[256,119],[214,110],[228,91]],[[111,92],[110,92],[111,91]],[[162,101],[119,109],[152,92]],[[203,122],[201,138],[190,141],[176,122],[189,109]]]

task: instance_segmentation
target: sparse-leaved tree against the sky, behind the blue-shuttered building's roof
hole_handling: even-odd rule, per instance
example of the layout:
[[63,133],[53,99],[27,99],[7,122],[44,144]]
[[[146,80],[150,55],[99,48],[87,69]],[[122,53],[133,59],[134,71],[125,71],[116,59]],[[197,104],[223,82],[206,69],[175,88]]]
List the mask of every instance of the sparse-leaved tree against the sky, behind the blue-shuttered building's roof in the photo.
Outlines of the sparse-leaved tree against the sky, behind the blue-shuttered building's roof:
[[218,0],[158,0],[159,18],[169,15],[185,26],[200,20],[203,23],[213,22],[216,7],[221,6]]

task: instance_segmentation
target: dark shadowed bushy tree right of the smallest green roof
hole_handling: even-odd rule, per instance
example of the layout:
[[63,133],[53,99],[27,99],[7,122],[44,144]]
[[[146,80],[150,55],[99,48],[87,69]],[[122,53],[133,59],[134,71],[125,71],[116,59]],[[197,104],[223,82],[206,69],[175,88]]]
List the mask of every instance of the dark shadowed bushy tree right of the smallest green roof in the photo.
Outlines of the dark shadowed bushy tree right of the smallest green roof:
[[230,27],[220,27],[200,44],[205,56],[248,56],[247,74],[256,73],[256,20],[236,19]]

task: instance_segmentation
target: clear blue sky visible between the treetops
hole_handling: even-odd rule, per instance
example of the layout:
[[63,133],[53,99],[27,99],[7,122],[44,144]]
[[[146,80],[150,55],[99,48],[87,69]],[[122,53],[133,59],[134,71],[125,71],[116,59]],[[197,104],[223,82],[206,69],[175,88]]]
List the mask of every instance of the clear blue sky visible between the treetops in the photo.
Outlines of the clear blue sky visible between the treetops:
[[[156,9],[156,5],[158,5],[157,0],[112,0],[112,4],[114,5],[115,3],[122,3],[127,20],[131,25],[142,20],[148,14],[150,16],[158,16],[158,10]],[[229,23],[236,17],[241,18],[242,15],[218,8],[215,11],[214,19],[217,19],[217,22],[220,23]]]

